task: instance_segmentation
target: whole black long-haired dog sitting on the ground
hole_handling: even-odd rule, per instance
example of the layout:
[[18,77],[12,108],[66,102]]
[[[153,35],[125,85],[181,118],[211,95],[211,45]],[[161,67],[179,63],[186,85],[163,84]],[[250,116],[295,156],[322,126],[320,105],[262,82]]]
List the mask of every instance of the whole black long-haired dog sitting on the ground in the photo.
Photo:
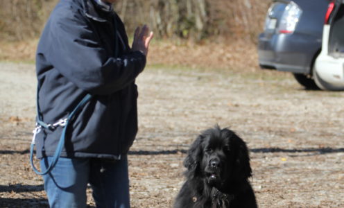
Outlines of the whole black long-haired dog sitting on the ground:
[[218,126],[205,130],[193,142],[184,166],[187,181],[175,208],[257,207],[248,181],[252,176],[248,148],[232,130]]

